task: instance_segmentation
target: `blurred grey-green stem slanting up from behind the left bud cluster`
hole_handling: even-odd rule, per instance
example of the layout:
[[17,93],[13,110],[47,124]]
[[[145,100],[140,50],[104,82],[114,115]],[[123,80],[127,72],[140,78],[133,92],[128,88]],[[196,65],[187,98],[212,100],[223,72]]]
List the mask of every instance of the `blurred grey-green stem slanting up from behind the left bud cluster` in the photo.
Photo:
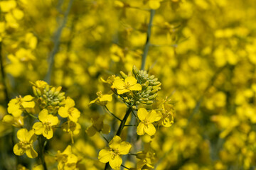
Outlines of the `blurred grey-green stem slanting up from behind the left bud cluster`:
[[48,84],[50,83],[50,77],[53,72],[54,56],[58,52],[58,47],[60,45],[60,36],[61,36],[63,28],[65,27],[65,23],[67,23],[68,13],[70,12],[72,4],[73,4],[73,0],[70,0],[69,4],[68,4],[68,8],[66,9],[65,14],[64,14],[63,23],[61,24],[61,26],[58,28],[58,30],[55,32],[55,35],[54,35],[54,46],[53,46],[53,50],[50,52],[50,56],[48,58],[49,67],[48,67],[48,72],[45,77],[45,81],[48,82]]

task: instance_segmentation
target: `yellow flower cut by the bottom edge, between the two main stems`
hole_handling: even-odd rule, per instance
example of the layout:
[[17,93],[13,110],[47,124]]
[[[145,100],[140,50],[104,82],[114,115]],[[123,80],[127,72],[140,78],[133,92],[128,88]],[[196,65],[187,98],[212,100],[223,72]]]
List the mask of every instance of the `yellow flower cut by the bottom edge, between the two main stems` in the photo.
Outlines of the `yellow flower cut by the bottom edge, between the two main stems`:
[[61,170],[75,169],[76,163],[78,162],[78,157],[76,157],[75,154],[72,154],[70,145],[68,145],[68,147],[62,153],[58,151],[55,159],[58,162],[58,169]]

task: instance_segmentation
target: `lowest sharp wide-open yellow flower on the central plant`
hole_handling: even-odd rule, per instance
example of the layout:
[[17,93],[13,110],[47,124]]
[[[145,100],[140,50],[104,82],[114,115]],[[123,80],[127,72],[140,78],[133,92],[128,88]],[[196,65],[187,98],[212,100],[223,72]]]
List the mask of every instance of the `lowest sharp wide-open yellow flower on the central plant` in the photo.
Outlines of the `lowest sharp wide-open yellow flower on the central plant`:
[[110,162],[112,169],[119,169],[122,164],[120,155],[128,154],[132,145],[129,142],[122,142],[119,136],[114,136],[109,143],[110,148],[101,149],[99,159],[102,163]]

